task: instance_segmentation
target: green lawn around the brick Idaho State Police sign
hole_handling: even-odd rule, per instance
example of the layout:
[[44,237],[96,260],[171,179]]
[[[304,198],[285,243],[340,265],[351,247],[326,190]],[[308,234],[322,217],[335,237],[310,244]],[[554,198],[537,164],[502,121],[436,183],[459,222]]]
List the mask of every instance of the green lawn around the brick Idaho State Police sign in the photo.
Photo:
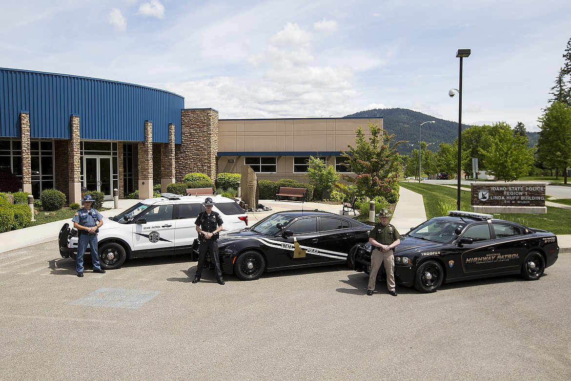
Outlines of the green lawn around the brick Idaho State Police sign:
[[[443,209],[456,209],[456,189],[433,185],[400,182],[401,187],[420,193],[424,198],[427,218],[444,215]],[[449,206],[449,208],[441,207]],[[470,210],[470,192],[460,192],[461,210]],[[546,214],[505,213],[494,214],[494,218],[520,223],[527,227],[544,229],[555,234],[571,234],[571,210],[547,207]]]

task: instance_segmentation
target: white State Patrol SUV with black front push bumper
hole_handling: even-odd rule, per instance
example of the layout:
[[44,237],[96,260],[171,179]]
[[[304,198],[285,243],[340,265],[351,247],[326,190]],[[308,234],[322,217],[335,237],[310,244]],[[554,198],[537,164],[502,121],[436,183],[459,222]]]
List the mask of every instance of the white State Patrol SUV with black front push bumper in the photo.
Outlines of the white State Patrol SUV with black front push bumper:
[[[190,254],[192,242],[198,237],[195,220],[205,210],[207,196],[179,196],[163,193],[160,197],[141,200],[123,213],[103,219],[99,228],[98,248],[101,268],[111,270],[122,266],[127,258]],[[213,210],[220,213],[224,235],[248,225],[243,208],[231,198],[210,196]],[[59,231],[59,254],[63,258],[77,256],[77,230],[73,222]],[[89,250],[89,248],[87,249]],[[86,255],[87,259],[90,255]]]

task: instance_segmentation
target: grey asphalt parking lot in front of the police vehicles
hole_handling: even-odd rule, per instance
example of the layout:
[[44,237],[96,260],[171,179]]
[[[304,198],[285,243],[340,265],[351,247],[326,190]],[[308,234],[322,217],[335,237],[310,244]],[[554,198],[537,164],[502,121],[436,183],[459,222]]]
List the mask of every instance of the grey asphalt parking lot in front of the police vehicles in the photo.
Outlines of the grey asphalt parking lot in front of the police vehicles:
[[[396,298],[344,266],[253,282],[137,259],[75,276],[49,242],[0,258],[3,380],[571,379],[571,254],[535,282]],[[89,268],[89,267],[87,267]]]

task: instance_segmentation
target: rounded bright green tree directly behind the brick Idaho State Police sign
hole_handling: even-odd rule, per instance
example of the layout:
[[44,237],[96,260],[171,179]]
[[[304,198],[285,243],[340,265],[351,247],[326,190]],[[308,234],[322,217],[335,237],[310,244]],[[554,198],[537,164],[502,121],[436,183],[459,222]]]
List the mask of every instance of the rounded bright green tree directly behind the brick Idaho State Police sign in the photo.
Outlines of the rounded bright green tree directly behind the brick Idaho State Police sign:
[[528,175],[533,165],[533,149],[528,138],[511,128],[502,128],[492,137],[492,145],[481,150],[488,173],[503,181],[514,181]]

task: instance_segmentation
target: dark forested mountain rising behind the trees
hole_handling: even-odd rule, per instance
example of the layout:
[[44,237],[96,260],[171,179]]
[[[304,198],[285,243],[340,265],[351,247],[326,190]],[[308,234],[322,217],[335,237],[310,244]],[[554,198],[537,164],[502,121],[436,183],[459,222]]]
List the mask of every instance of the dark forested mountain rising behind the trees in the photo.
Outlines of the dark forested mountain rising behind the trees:
[[[440,143],[452,144],[458,137],[458,122],[445,121],[431,117],[431,115],[419,113],[408,109],[373,109],[360,111],[359,113],[347,115],[345,118],[383,118],[383,128],[389,134],[395,134],[395,141],[407,141],[397,147],[399,154],[410,155],[413,149],[419,148],[419,126],[420,123],[435,121],[436,123],[426,123],[422,126],[421,140],[428,143],[428,149],[437,151]],[[462,125],[462,129],[467,129],[468,125]],[[514,126],[512,126],[514,127]],[[538,133],[528,131],[529,145],[537,143]]]

